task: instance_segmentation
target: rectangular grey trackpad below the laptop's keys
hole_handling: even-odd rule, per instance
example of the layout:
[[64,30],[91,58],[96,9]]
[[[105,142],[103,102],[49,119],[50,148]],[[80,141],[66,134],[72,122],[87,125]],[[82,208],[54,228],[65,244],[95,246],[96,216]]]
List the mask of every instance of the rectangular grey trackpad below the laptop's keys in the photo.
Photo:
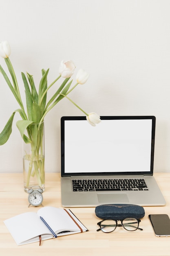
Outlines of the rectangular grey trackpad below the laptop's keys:
[[99,203],[126,203],[129,202],[126,193],[98,193]]

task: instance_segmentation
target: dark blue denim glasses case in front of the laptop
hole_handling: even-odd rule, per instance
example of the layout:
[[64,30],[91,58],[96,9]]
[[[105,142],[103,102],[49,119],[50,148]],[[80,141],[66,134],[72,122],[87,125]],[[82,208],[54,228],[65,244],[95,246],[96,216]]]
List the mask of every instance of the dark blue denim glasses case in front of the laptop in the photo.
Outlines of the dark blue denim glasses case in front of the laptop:
[[102,204],[95,208],[97,217],[103,220],[140,219],[145,216],[144,208],[136,204]]

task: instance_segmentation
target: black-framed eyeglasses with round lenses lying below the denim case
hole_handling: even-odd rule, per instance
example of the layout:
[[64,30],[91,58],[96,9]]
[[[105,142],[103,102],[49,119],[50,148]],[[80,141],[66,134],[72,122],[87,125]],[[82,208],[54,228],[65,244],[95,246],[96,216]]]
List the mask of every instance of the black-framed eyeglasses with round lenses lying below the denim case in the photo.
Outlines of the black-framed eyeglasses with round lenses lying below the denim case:
[[[121,221],[121,224],[117,224],[118,221]],[[124,227],[124,229],[128,231],[135,231],[137,229],[143,230],[139,228],[139,223],[141,220],[135,218],[126,218],[124,220],[102,220],[97,223],[100,227],[97,231],[102,230],[104,233],[113,232],[116,227]]]

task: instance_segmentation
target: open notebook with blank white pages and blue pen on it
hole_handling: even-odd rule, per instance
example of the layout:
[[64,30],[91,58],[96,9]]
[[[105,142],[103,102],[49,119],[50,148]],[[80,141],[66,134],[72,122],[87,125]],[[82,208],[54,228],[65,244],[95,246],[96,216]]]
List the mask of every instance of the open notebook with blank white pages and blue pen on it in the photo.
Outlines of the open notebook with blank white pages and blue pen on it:
[[42,207],[4,220],[17,245],[88,231],[70,209]]

